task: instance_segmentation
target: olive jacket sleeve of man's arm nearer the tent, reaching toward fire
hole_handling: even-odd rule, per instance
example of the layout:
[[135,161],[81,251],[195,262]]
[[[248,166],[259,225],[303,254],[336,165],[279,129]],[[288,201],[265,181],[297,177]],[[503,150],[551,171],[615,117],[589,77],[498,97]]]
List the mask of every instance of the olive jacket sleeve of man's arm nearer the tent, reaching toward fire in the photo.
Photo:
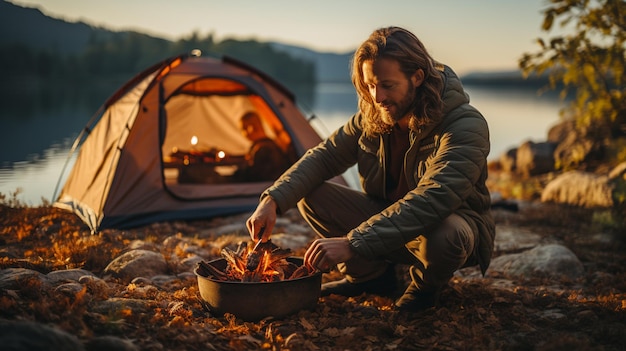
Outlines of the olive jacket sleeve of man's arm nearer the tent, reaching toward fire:
[[354,115],[330,137],[308,150],[261,197],[271,196],[279,213],[295,207],[311,190],[356,163],[360,134],[360,115]]

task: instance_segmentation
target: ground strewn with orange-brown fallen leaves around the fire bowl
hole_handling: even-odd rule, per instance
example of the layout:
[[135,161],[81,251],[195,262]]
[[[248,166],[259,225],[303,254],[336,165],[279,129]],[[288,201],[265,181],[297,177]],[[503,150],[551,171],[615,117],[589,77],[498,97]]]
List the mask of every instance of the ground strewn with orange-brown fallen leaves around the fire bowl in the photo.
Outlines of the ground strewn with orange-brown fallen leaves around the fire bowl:
[[[193,279],[143,296],[151,301],[147,313],[115,315],[90,308],[94,301],[112,297],[141,298],[133,293],[137,287],[110,284],[115,288],[67,296],[31,282],[17,291],[0,290],[0,318],[56,325],[83,341],[114,335],[142,350],[624,350],[624,241],[591,240],[599,229],[589,225],[592,213],[586,210],[495,214],[498,224],[560,239],[583,262],[584,279],[533,277],[500,289],[493,284],[498,277],[457,277],[443,291],[441,306],[413,315],[392,311],[388,298],[333,296],[320,298],[314,311],[259,323],[210,316]],[[97,275],[135,239],[193,238],[225,221],[157,223],[91,235],[76,216],[59,209],[0,205],[0,268],[42,273],[83,268]]]

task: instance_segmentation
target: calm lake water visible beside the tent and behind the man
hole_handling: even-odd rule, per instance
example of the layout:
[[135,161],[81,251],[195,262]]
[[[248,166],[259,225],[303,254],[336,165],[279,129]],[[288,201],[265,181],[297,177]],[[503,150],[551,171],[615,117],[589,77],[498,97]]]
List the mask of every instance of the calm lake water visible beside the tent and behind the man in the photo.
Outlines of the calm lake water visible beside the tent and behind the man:
[[[559,119],[562,103],[554,97],[538,97],[529,90],[466,88],[472,104],[489,122],[490,159],[521,142],[545,140],[547,130]],[[88,101],[68,98],[62,106],[38,101],[19,104],[20,108],[3,108],[0,193],[10,197],[17,191],[17,199],[31,206],[40,205],[43,200],[52,201],[74,138],[106,97],[95,99],[96,104],[93,98]],[[315,116],[311,123],[322,136],[343,124],[356,106],[349,84],[321,85],[314,101],[314,106],[304,106],[303,111]],[[355,184],[354,172],[347,178]]]

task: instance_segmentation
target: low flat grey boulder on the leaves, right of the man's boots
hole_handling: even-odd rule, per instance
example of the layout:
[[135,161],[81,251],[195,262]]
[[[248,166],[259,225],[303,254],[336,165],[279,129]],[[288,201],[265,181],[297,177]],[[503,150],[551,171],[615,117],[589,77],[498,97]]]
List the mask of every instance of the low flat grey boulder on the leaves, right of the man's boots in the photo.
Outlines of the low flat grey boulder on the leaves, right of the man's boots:
[[540,245],[518,254],[498,256],[491,260],[489,272],[501,272],[513,277],[567,277],[583,275],[580,260],[567,247],[558,244]]

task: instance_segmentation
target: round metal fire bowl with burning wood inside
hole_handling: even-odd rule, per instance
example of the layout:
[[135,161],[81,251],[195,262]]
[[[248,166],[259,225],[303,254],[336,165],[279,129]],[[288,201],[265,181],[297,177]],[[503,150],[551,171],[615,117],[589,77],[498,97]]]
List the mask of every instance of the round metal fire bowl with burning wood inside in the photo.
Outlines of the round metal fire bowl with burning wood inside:
[[231,313],[246,321],[282,318],[314,309],[322,273],[270,241],[225,248],[222,257],[196,266],[200,296],[213,315]]

